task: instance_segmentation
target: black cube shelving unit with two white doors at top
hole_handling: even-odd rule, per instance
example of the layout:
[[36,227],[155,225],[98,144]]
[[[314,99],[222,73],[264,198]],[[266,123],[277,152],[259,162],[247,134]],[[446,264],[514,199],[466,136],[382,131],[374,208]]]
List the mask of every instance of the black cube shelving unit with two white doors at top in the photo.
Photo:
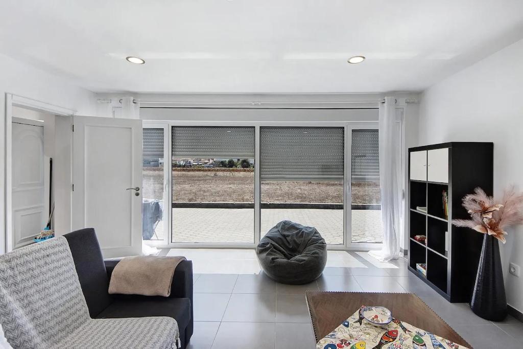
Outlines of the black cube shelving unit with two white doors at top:
[[[408,268],[450,302],[470,302],[483,242],[483,234],[451,221],[470,217],[461,200],[474,188],[492,195],[493,150],[493,143],[483,142],[408,150]],[[416,235],[425,235],[425,242],[415,240]],[[426,265],[426,275],[417,264]]]

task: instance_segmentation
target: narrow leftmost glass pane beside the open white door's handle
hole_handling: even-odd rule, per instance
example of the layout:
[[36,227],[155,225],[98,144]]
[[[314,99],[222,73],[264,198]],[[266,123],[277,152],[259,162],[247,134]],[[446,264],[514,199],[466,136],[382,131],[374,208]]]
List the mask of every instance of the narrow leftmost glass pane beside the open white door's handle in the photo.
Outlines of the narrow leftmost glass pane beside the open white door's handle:
[[164,240],[164,130],[143,129],[142,234]]

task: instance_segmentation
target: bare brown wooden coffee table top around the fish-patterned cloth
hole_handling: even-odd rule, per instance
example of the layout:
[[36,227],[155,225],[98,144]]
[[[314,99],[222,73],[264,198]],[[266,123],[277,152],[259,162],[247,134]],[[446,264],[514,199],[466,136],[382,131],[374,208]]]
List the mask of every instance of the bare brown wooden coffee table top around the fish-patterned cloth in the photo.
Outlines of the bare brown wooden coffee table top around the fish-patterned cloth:
[[316,342],[331,333],[361,306],[383,306],[401,321],[472,348],[418,296],[411,293],[306,292]]

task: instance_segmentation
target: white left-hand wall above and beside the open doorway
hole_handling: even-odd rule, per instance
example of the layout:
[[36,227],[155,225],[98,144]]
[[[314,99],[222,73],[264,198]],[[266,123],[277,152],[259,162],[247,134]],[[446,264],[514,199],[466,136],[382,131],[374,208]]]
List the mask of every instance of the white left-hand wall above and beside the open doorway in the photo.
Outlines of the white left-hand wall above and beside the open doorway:
[[96,95],[71,82],[0,54],[0,253],[5,252],[5,93],[95,115]]

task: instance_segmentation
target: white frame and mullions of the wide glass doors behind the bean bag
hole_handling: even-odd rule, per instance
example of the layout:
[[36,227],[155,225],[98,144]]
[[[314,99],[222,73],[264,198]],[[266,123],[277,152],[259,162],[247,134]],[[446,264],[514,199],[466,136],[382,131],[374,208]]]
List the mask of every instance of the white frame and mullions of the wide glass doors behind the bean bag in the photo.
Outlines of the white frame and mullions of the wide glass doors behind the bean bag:
[[[350,200],[350,166],[348,162],[350,161],[350,130],[356,128],[367,128],[367,129],[377,129],[378,121],[143,121],[144,128],[162,128],[166,129],[167,140],[164,152],[168,154],[169,157],[165,156],[170,164],[170,137],[171,137],[171,127],[173,126],[248,126],[255,127],[256,130],[256,139],[255,139],[255,161],[258,162],[258,166],[255,166],[255,183],[254,183],[254,194],[255,194],[255,224],[254,224],[254,238],[255,241],[259,241],[260,238],[260,215],[259,215],[259,200],[260,200],[260,177],[259,177],[259,128],[263,126],[309,126],[309,127],[344,127],[345,128],[345,175],[344,175],[344,244],[343,245],[328,245],[329,250],[342,250],[342,251],[367,251],[367,250],[377,250],[381,249],[380,243],[352,243],[350,240],[350,207],[346,205],[347,200]],[[404,132],[404,122],[402,127],[402,133]],[[402,134],[402,140],[404,139]],[[405,147],[403,142],[402,148]],[[347,161],[347,159],[349,161]],[[165,162],[167,163],[167,161]],[[170,166],[170,165],[169,165]],[[169,166],[164,166],[168,168]],[[258,172],[256,172],[258,168]],[[168,169],[167,171],[168,172]],[[172,195],[172,178],[170,178],[170,173],[165,175],[168,178],[168,201],[171,200]],[[168,210],[168,221],[165,225],[164,223],[164,233],[168,233],[168,241],[165,245],[160,243],[155,243],[155,246],[158,247],[169,247],[169,248],[178,248],[178,247],[190,247],[190,248],[225,248],[225,249],[253,249],[256,247],[256,243],[173,243],[170,241],[172,237],[172,210]],[[167,229],[165,229],[167,228]]]

